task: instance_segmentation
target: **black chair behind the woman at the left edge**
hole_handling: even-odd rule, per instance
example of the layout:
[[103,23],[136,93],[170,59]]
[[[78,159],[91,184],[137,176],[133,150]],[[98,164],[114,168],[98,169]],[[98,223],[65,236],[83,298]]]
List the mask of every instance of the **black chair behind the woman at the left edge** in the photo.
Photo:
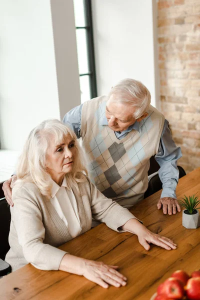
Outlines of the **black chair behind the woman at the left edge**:
[[[4,196],[2,184],[0,184],[0,196]],[[9,250],[8,235],[10,227],[10,209],[5,198],[0,198],[0,276],[10,272],[10,265],[4,261],[5,255]]]

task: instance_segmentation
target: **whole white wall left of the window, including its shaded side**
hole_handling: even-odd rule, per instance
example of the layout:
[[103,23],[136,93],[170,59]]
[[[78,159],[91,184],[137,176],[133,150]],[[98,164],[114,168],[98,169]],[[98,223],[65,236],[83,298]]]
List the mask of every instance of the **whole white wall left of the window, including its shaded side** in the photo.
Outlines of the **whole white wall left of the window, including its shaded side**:
[[36,124],[80,103],[72,3],[0,0],[1,148],[21,149]]

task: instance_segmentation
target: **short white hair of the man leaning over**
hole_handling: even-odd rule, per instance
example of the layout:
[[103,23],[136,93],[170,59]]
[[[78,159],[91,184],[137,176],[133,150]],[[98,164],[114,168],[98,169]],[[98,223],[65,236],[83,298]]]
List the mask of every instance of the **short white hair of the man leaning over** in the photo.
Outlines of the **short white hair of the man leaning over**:
[[137,119],[148,111],[150,92],[140,81],[125,78],[111,88],[108,100],[118,103],[128,102],[131,106],[135,106],[133,117]]

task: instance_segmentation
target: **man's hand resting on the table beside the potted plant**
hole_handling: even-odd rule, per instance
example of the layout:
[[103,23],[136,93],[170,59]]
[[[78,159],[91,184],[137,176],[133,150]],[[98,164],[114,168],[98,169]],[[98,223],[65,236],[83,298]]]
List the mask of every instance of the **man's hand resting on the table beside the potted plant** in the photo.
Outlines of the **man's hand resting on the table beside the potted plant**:
[[164,214],[175,214],[176,209],[178,212],[181,211],[180,205],[178,204],[177,199],[171,198],[171,197],[163,197],[160,198],[157,202],[157,209],[160,209],[162,207]]

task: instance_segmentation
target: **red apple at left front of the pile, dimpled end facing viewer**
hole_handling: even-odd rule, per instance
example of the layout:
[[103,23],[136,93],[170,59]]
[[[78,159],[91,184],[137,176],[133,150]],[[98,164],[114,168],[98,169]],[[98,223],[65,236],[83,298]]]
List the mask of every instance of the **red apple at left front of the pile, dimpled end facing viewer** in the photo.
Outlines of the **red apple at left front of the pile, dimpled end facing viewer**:
[[182,299],[184,296],[184,287],[180,280],[169,277],[163,283],[162,293],[168,299]]

